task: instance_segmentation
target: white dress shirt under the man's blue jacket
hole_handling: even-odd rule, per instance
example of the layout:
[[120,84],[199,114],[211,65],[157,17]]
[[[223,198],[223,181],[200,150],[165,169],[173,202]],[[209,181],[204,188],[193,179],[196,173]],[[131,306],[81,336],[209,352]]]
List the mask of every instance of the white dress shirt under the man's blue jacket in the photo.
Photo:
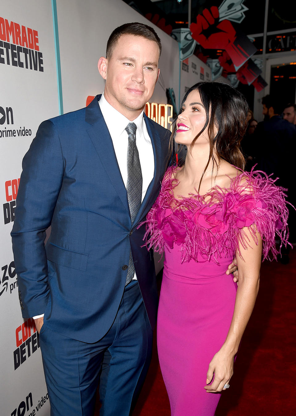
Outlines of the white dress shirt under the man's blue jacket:
[[[99,106],[103,114],[105,123],[108,127],[114,151],[117,158],[117,163],[119,170],[123,179],[123,183],[126,187],[128,182],[128,168],[127,168],[127,154],[128,154],[128,133],[125,130],[128,123],[131,121],[123,116],[119,111],[109,104],[109,102],[104,97],[104,94],[101,95],[99,100]],[[142,171],[142,201],[146,195],[146,191],[150,182],[153,179],[154,175],[154,154],[151,144],[151,139],[149,137],[146,124],[144,123],[143,112],[133,120],[133,123],[136,124],[136,145],[139,152],[139,159],[141,163]],[[133,280],[136,280],[136,273],[133,277]],[[41,318],[44,314],[33,316],[33,319]]]

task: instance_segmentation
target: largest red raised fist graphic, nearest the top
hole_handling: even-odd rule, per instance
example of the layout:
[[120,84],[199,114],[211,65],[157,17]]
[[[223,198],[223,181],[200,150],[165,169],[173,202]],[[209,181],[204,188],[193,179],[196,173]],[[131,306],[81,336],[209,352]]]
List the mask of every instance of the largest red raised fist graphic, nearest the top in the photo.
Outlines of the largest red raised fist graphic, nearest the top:
[[212,6],[197,15],[196,23],[191,23],[192,37],[205,49],[226,49],[234,42],[236,32],[229,20],[219,22],[219,10]]

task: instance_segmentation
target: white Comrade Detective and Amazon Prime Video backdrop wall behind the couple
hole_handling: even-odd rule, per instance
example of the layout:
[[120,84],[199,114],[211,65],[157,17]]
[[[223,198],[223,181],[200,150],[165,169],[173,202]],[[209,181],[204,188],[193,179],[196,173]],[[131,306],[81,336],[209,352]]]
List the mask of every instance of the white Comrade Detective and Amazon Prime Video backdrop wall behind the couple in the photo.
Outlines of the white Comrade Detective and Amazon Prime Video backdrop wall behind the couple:
[[[39,337],[33,319],[22,318],[11,248],[10,232],[22,158],[41,121],[59,115],[60,109],[68,112],[84,107],[88,96],[104,91],[104,80],[97,69],[98,59],[105,55],[111,31],[132,21],[153,26],[163,45],[161,75],[150,100],[151,108],[167,104],[168,89],[174,92],[178,107],[178,43],[121,0],[1,1],[1,416],[47,416],[50,412]],[[58,38],[54,24],[58,27]],[[55,52],[58,39],[60,59]],[[57,67],[61,79],[59,88]],[[211,79],[210,70],[192,56],[181,66],[180,94],[202,79]],[[169,127],[172,114],[166,117]],[[161,120],[163,123],[163,118]]]

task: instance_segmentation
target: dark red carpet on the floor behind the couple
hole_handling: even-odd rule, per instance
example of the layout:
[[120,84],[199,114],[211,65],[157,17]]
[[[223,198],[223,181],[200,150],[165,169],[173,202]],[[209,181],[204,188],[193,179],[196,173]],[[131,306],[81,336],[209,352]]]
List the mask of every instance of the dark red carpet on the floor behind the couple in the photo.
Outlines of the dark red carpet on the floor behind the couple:
[[[231,387],[223,392],[216,416],[296,414],[295,278],[296,248],[290,252],[289,265],[275,261],[263,263],[255,309],[244,333],[229,383]],[[148,376],[133,412],[133,416],[148,415],[170,416],[156,343]]]

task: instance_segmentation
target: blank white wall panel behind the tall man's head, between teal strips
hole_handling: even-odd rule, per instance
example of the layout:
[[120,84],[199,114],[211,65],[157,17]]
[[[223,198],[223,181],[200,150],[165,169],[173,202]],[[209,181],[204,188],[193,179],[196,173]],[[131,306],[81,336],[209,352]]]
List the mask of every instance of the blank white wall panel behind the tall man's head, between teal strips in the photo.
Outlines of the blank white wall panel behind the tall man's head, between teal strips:
[[[160,37],[160,79],[151,102],[166,103],[166,88],[179,88],[178,43],[121,0],[58,0],[59,46],[64,112],[85,106],[86,97],[104,91],[98,61],[112,30],[123,23],[152,26]],[[178,98],[178,97],[176,97]]]

